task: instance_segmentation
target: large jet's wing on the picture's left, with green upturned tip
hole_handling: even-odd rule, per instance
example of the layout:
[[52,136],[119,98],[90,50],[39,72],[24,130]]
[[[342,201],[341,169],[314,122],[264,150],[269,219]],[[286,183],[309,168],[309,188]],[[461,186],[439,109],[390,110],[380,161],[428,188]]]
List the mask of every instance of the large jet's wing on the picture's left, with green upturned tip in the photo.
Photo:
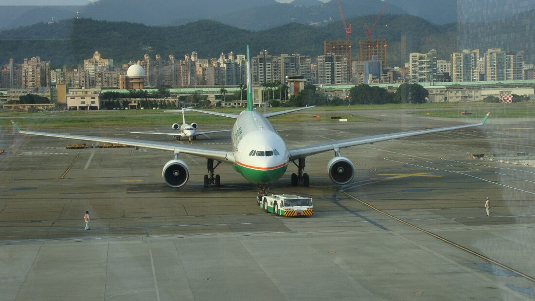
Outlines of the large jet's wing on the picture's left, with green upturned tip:
[[166,150],[172,151],[174,153],[186,153],[188,155],[210,158],[214,160],[223,161],[226,163],[234,163],[234,155],[230,151],[214,150],[208,148],[202,148],[194,145],[186,144],[176,144],[176,143],[166,143],[166,142],[154,142],[154,141],[145,141],[145,140],[136,140],[136,139],[124,139],[124,138],[110,138],[110,137],[97,137],[97,136],[85,136],[85,135],[71,135],[71,134],[57,134],[57,133],[48,133],[48,132],[35,132],[33,130],[21,130],[13,120],[11,123],[21,134],[37,135],[37,136],[48,136],[48,137],[57,137],[57,138],[67,138],[72,140],[82,140],[82,141],[95,141],[103,143],[117,143],[124,145],[137,146],[140,148],[148,149],[157,149],[157,150]]

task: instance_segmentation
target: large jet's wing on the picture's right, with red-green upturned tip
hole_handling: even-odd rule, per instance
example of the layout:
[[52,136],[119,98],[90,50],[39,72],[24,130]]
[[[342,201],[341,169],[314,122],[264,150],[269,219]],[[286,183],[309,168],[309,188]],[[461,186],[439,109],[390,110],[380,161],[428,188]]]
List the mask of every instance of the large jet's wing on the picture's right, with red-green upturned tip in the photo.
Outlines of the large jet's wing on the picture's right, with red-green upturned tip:
[[444,132],[446,130],[478,127],[478,126],[482,126],[483,124],[485,124],[485,121],[487,120],[488,115],[490,115],[490,113],[491,112],[488,112],[485,118],[483,118],[483,120],[481,122],[478,122],[477,124],[467,124],[467,125],[449,126],[449,127],[432,128],[432,129],[421,129],[421,130],[412,130],[409,132],[349,138],[345,140],[329,141],[329,142],[304,146],[302,148],[291,149],[291,150],[288,150],[290,153],[289,160],[293,161],[295,159],[304,158],[304,157],[315,155],[321,152],[339,150],[341,148],[348,148],[349,146],[372,144],[372,143],[379,142],[379,141],[386,141],[386,140],[400,139],[400,138],[416,136],[416,135]]

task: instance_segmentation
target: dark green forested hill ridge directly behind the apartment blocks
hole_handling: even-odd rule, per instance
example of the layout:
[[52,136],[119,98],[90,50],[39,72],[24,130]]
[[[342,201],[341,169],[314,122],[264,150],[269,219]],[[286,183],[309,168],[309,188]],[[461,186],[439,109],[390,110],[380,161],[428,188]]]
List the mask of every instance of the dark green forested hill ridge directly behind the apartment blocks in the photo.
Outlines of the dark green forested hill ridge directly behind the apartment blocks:
[[[372,24],[375,16],[361,16],[347,20],[351,24]],[[363,29],[350,35],[353,57],[358,58],[358,39],[364,39]],[[439,57],[449,58],[456,50],[456,26],[432,25],[409,15],[385,15],[377,24],[373,38],[385,38],[388,43],[388,65],[401,65],[401,35],[410,41],[409,51],[427,52],[437,49]],[[323,54],[323,41],[343,40],[341,21],[325,26],[290,23],[284,26],[251,32],[249,30],[201,20],[181,26],[146,26],[128,22],[109,22],[91,19],[70,19],[54,24],[39,23],[0,32],[0,64],[13,58],[20,64],[24,58],[40,56],[53,66],[83,63],[83,59],[98,51],[116,64],[143,59],[148,54],[182,58],[196,51],[200,58],[219,57],[220,53],[244,53],[249,44],[253,55],[267,49],[273,55],[299,52],[316,57]]]

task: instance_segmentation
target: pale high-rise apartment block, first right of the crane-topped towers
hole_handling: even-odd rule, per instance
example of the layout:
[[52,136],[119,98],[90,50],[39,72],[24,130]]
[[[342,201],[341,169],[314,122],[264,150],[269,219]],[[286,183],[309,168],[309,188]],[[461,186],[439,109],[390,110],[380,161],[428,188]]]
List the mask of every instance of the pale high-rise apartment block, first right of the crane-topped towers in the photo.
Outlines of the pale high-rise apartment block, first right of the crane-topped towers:
[[409,78],[412,82],[437,81],[437,50],[431,49],[427,53],[411,52]]

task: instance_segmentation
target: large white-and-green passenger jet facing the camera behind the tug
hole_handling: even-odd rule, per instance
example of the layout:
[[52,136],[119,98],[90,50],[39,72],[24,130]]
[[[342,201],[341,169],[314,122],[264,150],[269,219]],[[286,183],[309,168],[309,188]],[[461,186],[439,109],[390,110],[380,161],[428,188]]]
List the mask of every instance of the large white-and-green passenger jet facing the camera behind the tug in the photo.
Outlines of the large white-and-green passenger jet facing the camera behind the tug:
[[[255,111],[253,107],[253,94],[251,82],[251,63],[249,56],[249,46],[247,45],[247,106],[239,115],[206,112],[200,110],[187,109],[191,111],[209,113],[213,115],[234,118],[236,121],[232,128],[231,141],[232,150],[215,150],[194,145],[177,145],[166,142],[154,142],[133,140],[125,138],[96,137],[70,134],[57,134],[48,132],[34,132],[32,130],[21,130],[11,120],[14,128],[21,134],[50,136],[58,138],[69,138],[73,140],[96,141],[105,143],[119,143],[141,148],[159,149],[174,152],[174,159],[168,161],[162,170],[162,177],[165,183],[173,188],[184,186],[189,180],[189,168],[184,160],[178,158],[182,153],[198,157],[207,158],[208,174],[204,175],[204,187],[212,184],[220,186],[220,176],[214,175],[215,169],[221,163],[232,165],[234,170],[240,173],[246,180],[257,184],[261,187],[262,194],[265,194],[265,188],[284,175],[286,169],[293,163],[297,167],[297,173],[292,173],[291,183],[296,186],[303,184],[309,186],[310,177],[304,173],[305,160],[307,157],[327,151],[334,152],[333,158],[327,164],[327,173],[330,179],[339,185],[347,184],[353,180],[355,167],[346,157],[342,156],[341,149],[350,146],[372,144],[379,141],[400,139],[416,135],[443,132],[447,130],[463,129],[470,127],[483,126],[490,112],[488,112],[481,122],[476,124],[464,124],[457,126],[447,126],[432,129],[421,129],[409,132],[400,132],[393,134],[373,135],[364,137],[348,138],[338,141],[322,142],[303,146],[300,148],[288,149],[282,137],[273,128],[268,121],[269,117],[310,109],[309,107],[300,107],[293,110],[273,112],[262,115]],[[214,164],[217,162],[217,164]]]

